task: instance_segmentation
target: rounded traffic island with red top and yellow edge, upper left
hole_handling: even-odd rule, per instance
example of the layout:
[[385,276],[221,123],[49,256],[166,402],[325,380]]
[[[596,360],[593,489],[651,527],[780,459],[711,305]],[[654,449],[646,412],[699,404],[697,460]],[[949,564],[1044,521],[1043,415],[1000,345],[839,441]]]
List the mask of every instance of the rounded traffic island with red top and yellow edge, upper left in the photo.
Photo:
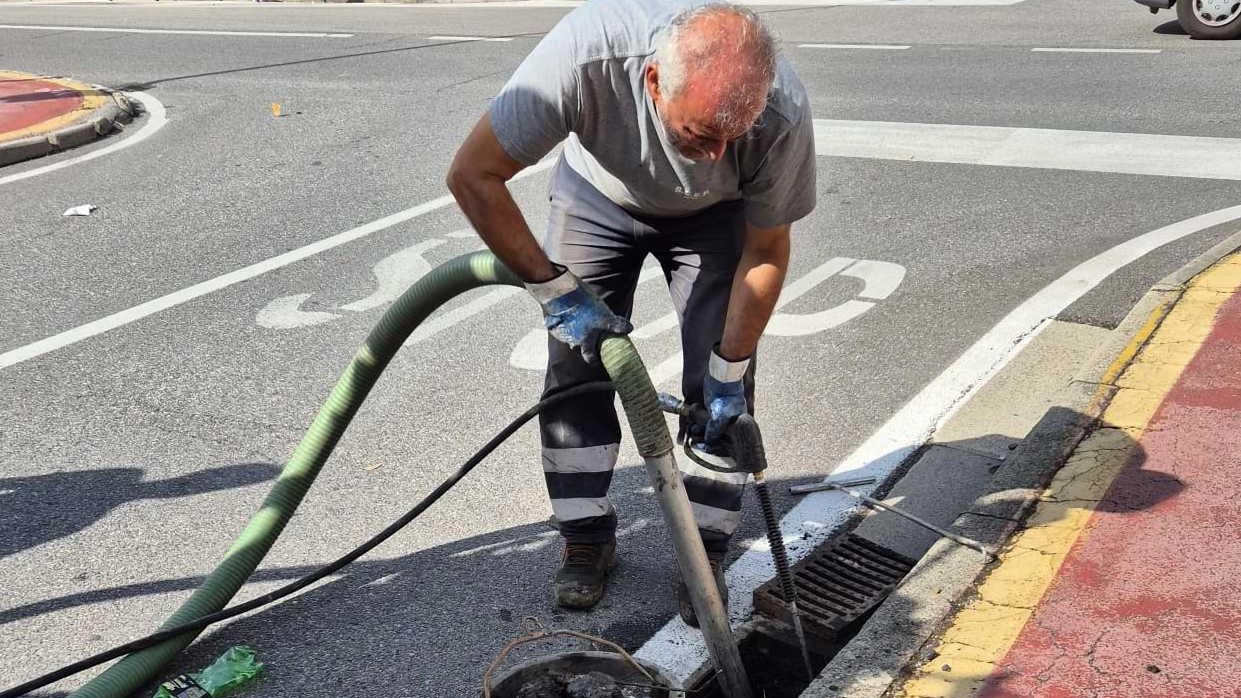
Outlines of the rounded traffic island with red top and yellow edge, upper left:
[[76,148],[137,114],[120,93],[66,78],[0,71],[0,166]]

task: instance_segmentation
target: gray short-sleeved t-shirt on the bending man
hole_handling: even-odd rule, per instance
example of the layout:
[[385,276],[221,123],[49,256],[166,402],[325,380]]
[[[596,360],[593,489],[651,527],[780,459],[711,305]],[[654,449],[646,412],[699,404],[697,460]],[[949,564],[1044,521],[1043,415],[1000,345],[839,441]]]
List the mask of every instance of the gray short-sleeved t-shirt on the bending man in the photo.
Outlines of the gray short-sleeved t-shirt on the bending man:
[[767,108],[720,160],[690,160],[669,143],[644,86],[659,32],[709,0],[592,0],[570,12],[491,103],[504,150],[531,165],[565,143],[565,161],[627,210],[685,216],[745,200],[758,227],[814,209],[814,123],[805,88],[783,57]]

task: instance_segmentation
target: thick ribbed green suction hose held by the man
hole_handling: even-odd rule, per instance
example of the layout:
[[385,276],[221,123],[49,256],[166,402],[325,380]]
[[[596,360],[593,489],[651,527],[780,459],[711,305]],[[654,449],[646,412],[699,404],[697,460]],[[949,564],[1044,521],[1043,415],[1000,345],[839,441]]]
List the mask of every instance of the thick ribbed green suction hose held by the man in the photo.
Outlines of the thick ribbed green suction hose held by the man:
[[[366,395],[410,334],[448,301],[467,291],[493,284],[520,286],[521,279],[491,252],[472,252],[428,272],[383,313],[331,389],[263,505],[233,542],[223,560],[160,626],[161,630],[213,614],[228,604],[284,530]],[[601,356],[629,416],[639,452],[643,456],[670,452],[673,441],[668,425],[633,344],[623,337],[608,337],[602,343]],[[69,698],[128,698],[155,679],[177,652],[194,642],[199,632],[186,632],[127,656],[71,693]]]

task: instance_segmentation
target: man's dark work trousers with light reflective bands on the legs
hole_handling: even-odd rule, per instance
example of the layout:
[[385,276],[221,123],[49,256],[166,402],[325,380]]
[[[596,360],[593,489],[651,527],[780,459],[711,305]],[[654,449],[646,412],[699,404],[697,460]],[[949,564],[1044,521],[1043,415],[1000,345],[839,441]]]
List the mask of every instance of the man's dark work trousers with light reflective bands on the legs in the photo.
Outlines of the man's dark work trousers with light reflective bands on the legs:
[[[711,348],[724,333],[732,278],[741,260],[745,217],[741,201],[716,204],[686,217],[649,217],[604,197],[563,160],[552,171],[551,214],[544,250],[568,267],[612,312],[625,318],[647,255],[664,271],[680,319],[685,364],[681,391],[702,402],[702,379]],[[549,337],[544,395],[608,380],[601,364]],[[753,409],[755,365],[746,395]],[[591,392],[539,415],[544,477],[561,535],[572,543],[601,543],[616,534],[608,499],[620,443],[613,392]],[[741,520],[748,476],[725,474],[679,458],[685,492],[707,551],[727,551]]]

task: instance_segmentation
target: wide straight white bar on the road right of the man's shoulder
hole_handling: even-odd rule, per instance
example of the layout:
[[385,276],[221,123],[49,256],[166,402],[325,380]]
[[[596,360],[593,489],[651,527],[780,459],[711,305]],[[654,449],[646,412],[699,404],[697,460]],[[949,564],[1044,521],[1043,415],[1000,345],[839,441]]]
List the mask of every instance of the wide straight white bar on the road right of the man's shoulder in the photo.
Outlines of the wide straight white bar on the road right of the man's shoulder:
[[839,158],[1241,180],[1239,138],[831,119],[814,138]]

